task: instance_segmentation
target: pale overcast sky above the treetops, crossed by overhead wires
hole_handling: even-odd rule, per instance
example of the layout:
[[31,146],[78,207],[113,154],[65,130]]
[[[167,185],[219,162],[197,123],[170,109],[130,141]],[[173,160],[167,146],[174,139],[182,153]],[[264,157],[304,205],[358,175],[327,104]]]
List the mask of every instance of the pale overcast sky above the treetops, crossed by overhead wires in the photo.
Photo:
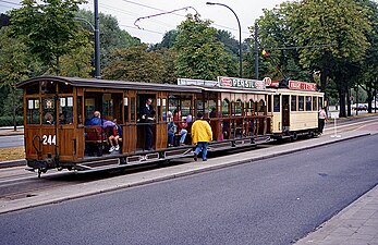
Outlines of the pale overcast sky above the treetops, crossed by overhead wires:
[[[81,8],[94,11],[94,0],[87,1],[88,3]],[[180,25],[186,14],[196,12],[202,20],[210,20],[211,26],[231,32],[239,40],[237,20],[232,11],[223,5],[207,5],[208,1],[225,4],[235,12],[241,24],[243,40],[251,37],[248,27],[254,26],[255,20],[263,15],[264,9],[271,10],[284,0],[98,0],[98,9],[99,12],[117,17],[122,29],[146,44],[160,42],[164,33]],[[20,0],[0,0],[0,13],[20,8]],[[171,11],[174,12],[147,17]],[[139,21],[135,23],[138,19]]]

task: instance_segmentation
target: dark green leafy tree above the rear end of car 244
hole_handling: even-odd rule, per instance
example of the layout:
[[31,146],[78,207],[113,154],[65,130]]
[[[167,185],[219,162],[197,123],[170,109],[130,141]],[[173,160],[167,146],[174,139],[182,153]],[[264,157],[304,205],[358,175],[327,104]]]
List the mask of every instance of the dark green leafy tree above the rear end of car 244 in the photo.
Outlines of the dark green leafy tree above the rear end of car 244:
[[[41,2],[41,3],[39,3]],[[59,59],[83,46],[81,26],[74,20],[78,4],[85,0],[24,0],[22,8],[11,11],[14,37],[25,37],[31,52],[59,75]]]

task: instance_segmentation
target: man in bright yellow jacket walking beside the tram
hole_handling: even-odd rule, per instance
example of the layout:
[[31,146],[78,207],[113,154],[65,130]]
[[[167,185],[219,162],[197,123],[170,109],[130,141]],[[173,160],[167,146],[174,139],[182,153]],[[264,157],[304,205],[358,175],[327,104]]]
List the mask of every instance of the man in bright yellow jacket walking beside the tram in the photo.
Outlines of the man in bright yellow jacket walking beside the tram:
[[194,160],[197,160],[198,154],[203,151],[203,161],[207,161],[207,146],[212,139],[210,124],[205,121],[202,112],[197,113],[197,120],[192,125],[192,142],[197,145],[194,150]]

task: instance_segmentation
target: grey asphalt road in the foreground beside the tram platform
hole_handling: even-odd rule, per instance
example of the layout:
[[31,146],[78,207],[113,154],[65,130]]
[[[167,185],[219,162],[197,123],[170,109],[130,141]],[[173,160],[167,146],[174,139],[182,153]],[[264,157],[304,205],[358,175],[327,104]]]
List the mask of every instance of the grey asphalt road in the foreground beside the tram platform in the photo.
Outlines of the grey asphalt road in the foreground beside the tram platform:
[[1,244],[291,244],[378,183],[377,140],[1,215]]

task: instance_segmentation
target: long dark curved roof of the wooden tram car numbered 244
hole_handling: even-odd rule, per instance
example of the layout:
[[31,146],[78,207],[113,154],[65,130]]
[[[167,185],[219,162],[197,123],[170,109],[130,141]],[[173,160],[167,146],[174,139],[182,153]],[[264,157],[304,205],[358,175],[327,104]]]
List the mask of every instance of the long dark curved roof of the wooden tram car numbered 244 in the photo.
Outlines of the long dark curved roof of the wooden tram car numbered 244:
[[179,86],[173,84],[155,84],[145,82],[126,82],[126,81],[110,81],[97,78],[81,78],[65,76],[38,76],[17,83],[17,87],[22,88],[28,84],[48,81],[68,83],[74,87],[96,87],[96,88],[119,88],[119,89],[136,89],[136,90],[161,90],[161,91],[185,91],[200,93],[202,88],[194,86]]

